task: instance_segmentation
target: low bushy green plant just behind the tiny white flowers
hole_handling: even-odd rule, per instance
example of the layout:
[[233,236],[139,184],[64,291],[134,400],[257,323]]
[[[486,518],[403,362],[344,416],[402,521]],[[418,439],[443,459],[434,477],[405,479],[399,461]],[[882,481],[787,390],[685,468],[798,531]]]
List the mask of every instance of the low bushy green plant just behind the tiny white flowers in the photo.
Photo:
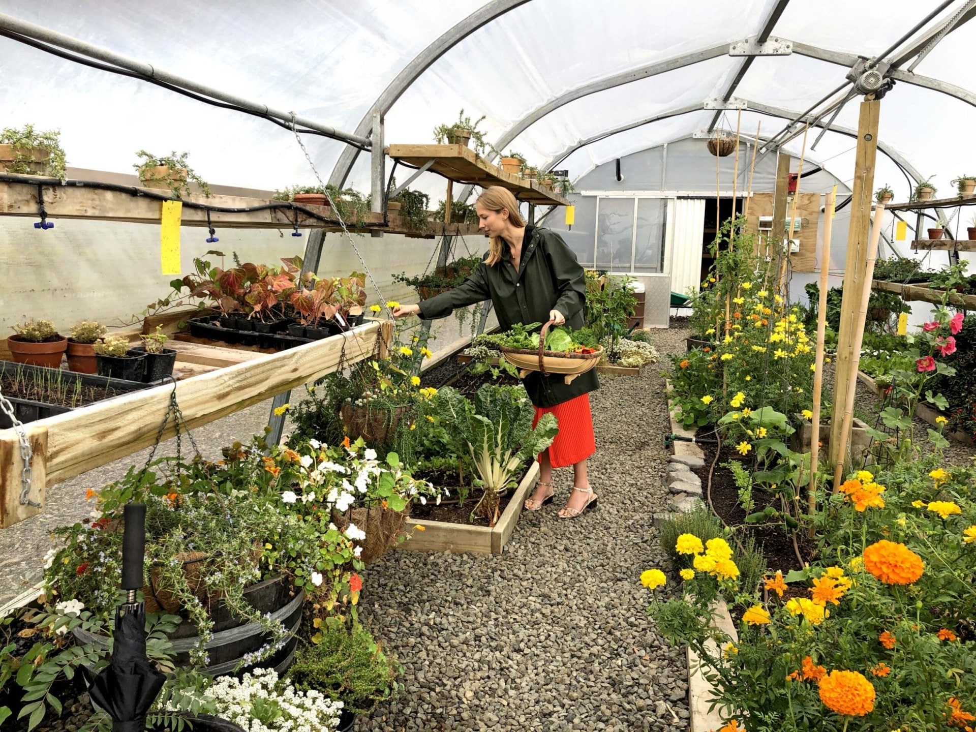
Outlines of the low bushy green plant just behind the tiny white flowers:
[[288,671],[297,690],[315,689],[351,712],[368,714],[402,688],[398,665],[358,623],[323,629],[315,637],[317,642],[299,647]]

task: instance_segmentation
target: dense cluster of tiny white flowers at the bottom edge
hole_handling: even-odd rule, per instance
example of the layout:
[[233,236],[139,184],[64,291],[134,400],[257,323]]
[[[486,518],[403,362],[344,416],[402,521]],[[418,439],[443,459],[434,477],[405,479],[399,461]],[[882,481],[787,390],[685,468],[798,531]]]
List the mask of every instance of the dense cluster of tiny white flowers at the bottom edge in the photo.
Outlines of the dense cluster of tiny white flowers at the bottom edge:
[[[314,689],[296,692],[286,686],[276,691],[278,674],[272,669],[256,669],[242,678],[222,676],[205,692],[217,705],[217,713],[248,732],[334,732],[343,710]],[[255,704],[261,700],[259,704]],[[263,710],[280,711],[276,718],[258,718]],[[275,716],[267,714],[268,717]]]

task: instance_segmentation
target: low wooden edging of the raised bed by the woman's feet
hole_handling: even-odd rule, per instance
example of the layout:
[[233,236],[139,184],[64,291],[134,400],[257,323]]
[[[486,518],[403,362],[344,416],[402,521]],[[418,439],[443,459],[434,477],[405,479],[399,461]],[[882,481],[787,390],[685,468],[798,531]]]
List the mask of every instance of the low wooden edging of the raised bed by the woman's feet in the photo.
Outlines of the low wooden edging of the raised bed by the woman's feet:
[[[419,517],[421,511],[427,507],[415,506],[411,517],[407,521],[410,540],[397,545],[399,549],[410,551],[452,551],[463,553],[472,551],[477,554],[500,554],[502,548],[508,544],[511,533],[515,529],[515,523],[522,512],[522,504],[535,485],[539,475],[539,463],[533,461],[526,469],[518,487],[503,499],[508,501],[502,511],[502,517],[494,527],[489,528],[485,525],[470,523],[456,523],[450,520],[437,520],[434,516],[439,512],[438,507],[431,508],[430,518]],[[447,518],[464,518],[470,513],[476,501],[471,498],[466,502],[465,508],[444,507],[443,514]],[[458,512],[464,516],[457,516]],[[484,523],[482,521],[482,523]]]

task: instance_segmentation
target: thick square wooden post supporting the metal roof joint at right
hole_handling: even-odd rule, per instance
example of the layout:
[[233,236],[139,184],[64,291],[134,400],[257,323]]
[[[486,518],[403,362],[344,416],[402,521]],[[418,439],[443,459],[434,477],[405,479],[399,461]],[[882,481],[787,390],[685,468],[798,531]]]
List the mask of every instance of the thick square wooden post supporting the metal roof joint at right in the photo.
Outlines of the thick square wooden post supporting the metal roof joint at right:
[[857,388],[857,377],[850,381],[850,364],[860,353],[853,350],[854,318],[861,304],[868,257],[868,230],[871,224],[872,188],[874,187],[874,159],[877,154],[877,122],[880,112],[877,100],[861,102],[858,120],[857,157],[854,162],[854,184],[851,191],[851,221],[847,230],[847,258],[844,261],[844,288],[840,302],[840,327],[837,331],[837,355],[834,358],[834,419],[831,420],[830,460],[847,451],[840,442],[838,410],[847,402],[848,389]]

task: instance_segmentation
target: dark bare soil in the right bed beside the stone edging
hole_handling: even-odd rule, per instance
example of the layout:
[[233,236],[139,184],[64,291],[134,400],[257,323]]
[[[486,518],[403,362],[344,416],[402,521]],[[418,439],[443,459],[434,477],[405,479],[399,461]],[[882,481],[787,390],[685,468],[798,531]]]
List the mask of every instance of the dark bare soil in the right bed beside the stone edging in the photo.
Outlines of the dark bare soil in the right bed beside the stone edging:
[[[694,472],[702,479],[706,503],[708,503],[709,468],[712,467],[716,447],[717,445],[701,445],[705,452],[705,468],[693,468]],[[712,507],[714,512],[728,526],[755,538],[756,546],[762,551],[762,555],[766,558],[766,565],[771,572],[782,570],[786,574],[792,569],[802,569],[803,566],[796,558],[796,552],[793,550],[793,540],[782,525],[764,526],[746,523],[746,511],[739,503],[739,489],[735,484],[732,471],[729,468],[722,467],[724,463],[730,460],[738,460],[744,468],[752,470],[750,461],[743,459],[733,448],[722,447],[718,455],[718,462],[712,471]],[[805,507],[805,502],[806,493],[804,491],[800,495],[800,504]],[[782,510],[778,496],[757,486],[752,486],[752,512],[758,512],[767,506]],[[796,544],[803,560],[812,561],[817,550],[816,544],[810,541],[802,531],[796,534]]]

